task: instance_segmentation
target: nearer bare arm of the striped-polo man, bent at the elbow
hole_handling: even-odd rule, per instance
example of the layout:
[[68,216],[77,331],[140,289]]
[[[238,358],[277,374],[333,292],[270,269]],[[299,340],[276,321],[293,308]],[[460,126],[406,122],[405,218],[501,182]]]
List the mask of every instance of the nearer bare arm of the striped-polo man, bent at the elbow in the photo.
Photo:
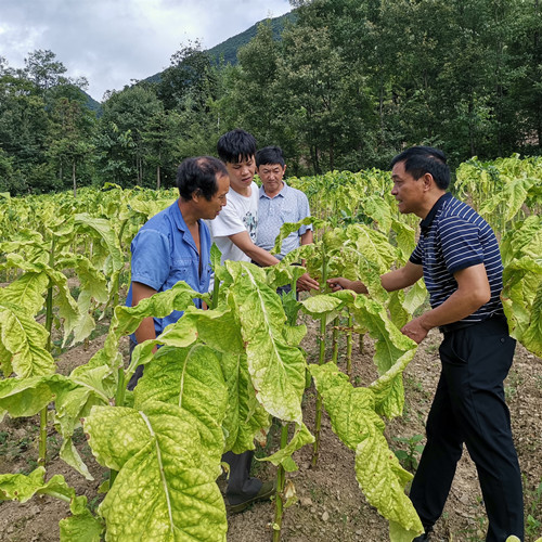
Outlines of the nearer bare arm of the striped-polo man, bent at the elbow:
[[454,273],[457,289],[439,307],[410,321],[401,332],[416,343],[427,336],[429,330],[462,320],[491,298],[488,275],[483,263]]

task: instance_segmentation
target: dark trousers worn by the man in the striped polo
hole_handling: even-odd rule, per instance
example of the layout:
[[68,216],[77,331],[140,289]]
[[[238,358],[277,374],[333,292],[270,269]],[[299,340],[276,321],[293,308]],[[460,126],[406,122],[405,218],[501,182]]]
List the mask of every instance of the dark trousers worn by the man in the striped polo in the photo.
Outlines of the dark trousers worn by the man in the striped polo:
[[444,333],[427,444],[410,492],[426,530],[442,514],[465,442],[488,514],[486,541],[524,540],[521,475],[503,387],[515,346],[504,319]]

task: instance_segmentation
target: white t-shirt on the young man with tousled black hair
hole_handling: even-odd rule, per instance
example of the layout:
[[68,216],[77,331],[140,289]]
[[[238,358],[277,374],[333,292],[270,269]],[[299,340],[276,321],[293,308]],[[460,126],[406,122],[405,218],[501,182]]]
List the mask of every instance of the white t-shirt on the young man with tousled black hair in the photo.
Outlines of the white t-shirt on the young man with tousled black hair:
[[209,220],[212,242],[222,253],[220,263],[225,260],[250,261],[250,258],[241,248],[237,248],[228,237],[235,233],[247,231],[253,243],[256,243],[256,227],[258,225],[258,185],[253,181],[250,195],[243,196],[232,188],[228,192],[227,205],[220,215]]

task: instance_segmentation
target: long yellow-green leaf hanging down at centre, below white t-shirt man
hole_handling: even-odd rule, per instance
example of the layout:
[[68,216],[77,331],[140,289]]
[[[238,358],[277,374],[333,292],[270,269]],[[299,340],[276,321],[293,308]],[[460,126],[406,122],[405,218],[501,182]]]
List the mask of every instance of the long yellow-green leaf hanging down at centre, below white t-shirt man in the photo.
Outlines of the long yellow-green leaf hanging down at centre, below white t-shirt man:
[[281,299],[266,284],[261,268],[232,261],[225,266],[235,278],[229,295],[238,313],[256,397],[271,415],[301,424],[306,361],[284,339]]

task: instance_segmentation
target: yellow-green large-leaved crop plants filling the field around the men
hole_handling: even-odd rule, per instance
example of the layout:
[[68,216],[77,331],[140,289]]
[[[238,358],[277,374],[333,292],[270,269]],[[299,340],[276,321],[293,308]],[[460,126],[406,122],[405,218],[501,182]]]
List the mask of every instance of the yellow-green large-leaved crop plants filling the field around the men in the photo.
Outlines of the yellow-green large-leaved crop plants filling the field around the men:
[[[486,168],[498,170],[500,164]],[[512,333],[540,356],[542,224],[534,210],[541,203],[541,179],[540,168],[531,170],[531,166],[530,159],[517,160],[516,175],[504,188],[495,185],[490,198],[506,191],[506,183],[532,178],[521,192],[521,204],[514,207],[517,211],[506,218],[502,245],[508,279],[503,299]],[[133,540],[150,529],[157,540],[223,540],[225,509],[216,483],[222,452],[254,448],[274,417],[284,428],[281,448],[264,461],[280,473],[278,540],[282,514],[287,514],[295,498],[287,479],[297,468],[293,454],[315,440],[302,411],[310,373],[333,430],[356,454],[351,476],[367,502],[389,520],[390,540],[408,540],[421,532],[404,493],[412,475],[389,449],[384,430],[386,420],[402,414],[402,372],[416,351],[399,330],[425,301],[426,293],[418,287],[406,295],[388,294],[379,283],[382,272],[409,257],[415,229],[399,215],[389,197],[390,178],[382,171],[326,173],[293,179],[293,183],[305,186],[327,218],[308,219],[317,230],[313,245],[301,246],[269,269],[230,261],[220,267],[215,250],[212,298],[179,283],[136,308],[119,305],[119,289],[128,280],[121,271],[129,259],[129,240],[141,223],[171,202],[175,192],[109,184],[101,191],[82,189],[77,197],[72,192],[2,196],[0,272],[10,284],[0,289],[0,369],[5,376],[0,379],[0,413],[34,416],[47,412],[54,401],[59,437],[49,433],[40,452],[48,442],[57,448],[62,437],[60,456],[89,478],[85,454],[74,442],[82,427],[92,453],[112,470],[112,477],[103,486],[105,499],[91,513],[86,498],[77,496],[62,477],[46,477],[46,454],[40,453],[40,464],[27,476],[0,476],[1,499],[25,502],[35,494],[49,494],[69,502],[72,516],[61,524],[63,541],[98,541],[105,531],[108,540]],[[341,216],[349,219],[337,219]],[[285,224],[281,236],[298,227]],[[292,263],[300,259],[320,280],[321,293],[299,304],[284,299],[283,306],[275,289],[295,282],[302,268]],[[521,269],[526,284],[509,269]],[[328,293],[325,278],[331,275],[362,280],[370,296]],[[72,288],[68,278],[77,283]],[[195,309],[195,297],[211,309]],[[62,332],[64,344],[81,341],[96,325],[94,317],[107,307],[114,310],[104,347],[68,376],[57,374],[47,346],[52,334]],[[139,345],[125,366],[121,337],[142,319],[173,309],[184,311],[183,318],[156,340]],[[351,318],[344,331],[374,339],[377,378],[352,386],[348,375],[324,357],[309,364],[299,348],[306,333],[296,323],[299,310],[319,320],[324,354],[326,325],[340,315]],[[160,348],[153,354],[156,345]],[[146,365],[144,376],[133,392],[127,391],[126,382],[139,364]],[[48,423],[43,416],[40,434],[47,435]],[[4,453],[17,453],[22,446],[23,440],[9,443],[0,435]],[[412,446],[414,456],[414,438]],[[134,509],[141,515],[134,515]],[[539,518],[531,516],[534,528]],[[145,518],[152,518],[152,524]]]

